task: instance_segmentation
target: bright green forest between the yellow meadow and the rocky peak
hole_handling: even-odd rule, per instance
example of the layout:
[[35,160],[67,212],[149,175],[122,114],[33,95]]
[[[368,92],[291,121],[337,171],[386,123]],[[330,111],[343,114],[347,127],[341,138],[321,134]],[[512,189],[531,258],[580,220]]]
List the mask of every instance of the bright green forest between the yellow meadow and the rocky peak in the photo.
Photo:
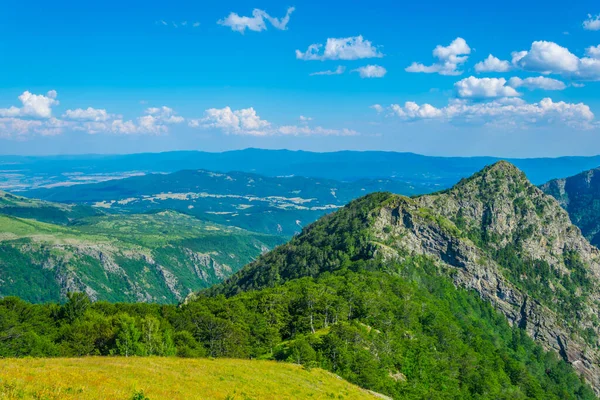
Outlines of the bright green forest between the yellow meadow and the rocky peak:
[[568,364],[437,268],[427,258],[356,261],[181,307],[6,298],[0,356],[262,358],[325,368],[402,399],[595,398]]

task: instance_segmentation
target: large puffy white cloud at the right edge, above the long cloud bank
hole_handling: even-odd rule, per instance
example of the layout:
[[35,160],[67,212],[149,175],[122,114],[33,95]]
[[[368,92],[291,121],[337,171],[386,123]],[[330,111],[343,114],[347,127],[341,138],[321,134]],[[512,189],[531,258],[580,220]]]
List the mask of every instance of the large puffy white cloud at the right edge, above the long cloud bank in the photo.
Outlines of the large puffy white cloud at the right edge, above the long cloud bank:
[[525,71],[544,75],[560,74],[571,79],[600,80],[600,59],[596,48],[587,49],[588,57],[579,58],[554,42],[533,42],[529,51],[513,53],[513,64]]

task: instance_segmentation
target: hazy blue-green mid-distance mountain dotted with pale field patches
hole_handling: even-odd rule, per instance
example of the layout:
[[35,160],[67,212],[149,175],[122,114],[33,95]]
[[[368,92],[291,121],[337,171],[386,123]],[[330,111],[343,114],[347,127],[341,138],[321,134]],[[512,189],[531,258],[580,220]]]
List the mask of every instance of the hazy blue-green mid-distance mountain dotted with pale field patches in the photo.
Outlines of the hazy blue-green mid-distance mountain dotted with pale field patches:
[[323,214],[376,191],[419,193],[414,186],[390,179],[339,182],[195,170],[36,189],[24,194],[93,206],[109,213],[172,209],[219,224],[292,236]]

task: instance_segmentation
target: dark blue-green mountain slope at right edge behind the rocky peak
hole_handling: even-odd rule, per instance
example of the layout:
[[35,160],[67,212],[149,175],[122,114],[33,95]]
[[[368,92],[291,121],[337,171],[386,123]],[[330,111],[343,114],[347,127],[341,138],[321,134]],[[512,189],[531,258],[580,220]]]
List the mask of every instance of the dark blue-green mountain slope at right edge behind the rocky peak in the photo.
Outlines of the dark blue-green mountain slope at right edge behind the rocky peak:
[[540,189],[556,198],[584,236],[600,247],[600,169],[553,179]]

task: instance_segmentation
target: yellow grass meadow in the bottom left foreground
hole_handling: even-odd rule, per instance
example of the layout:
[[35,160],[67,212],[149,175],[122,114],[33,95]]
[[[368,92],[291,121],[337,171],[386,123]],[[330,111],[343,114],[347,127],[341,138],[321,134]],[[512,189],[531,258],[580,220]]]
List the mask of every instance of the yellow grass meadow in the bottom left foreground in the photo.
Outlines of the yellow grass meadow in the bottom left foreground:
[[0,399],[375,399],[320,369],[231,359],[0,359]]

